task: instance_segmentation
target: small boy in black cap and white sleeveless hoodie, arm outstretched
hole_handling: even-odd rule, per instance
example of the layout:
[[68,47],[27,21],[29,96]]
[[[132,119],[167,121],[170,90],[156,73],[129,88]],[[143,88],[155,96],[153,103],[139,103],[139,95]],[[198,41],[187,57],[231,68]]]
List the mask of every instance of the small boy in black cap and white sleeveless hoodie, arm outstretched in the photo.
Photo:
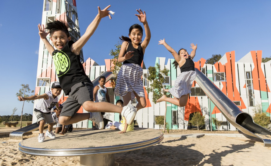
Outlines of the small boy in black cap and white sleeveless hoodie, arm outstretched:
[[39,136],[38,141],[44,142],[44,125],[45,122],[48,124],[48,130],[45,133],[45,136],[49,136],[50,138],[55,138],[54,133],[52,132],[54,120],[51,116],[51,109],[56,105],[58,110],[61,108],[58,107],[58,95],[60,95],[62,88],[60,87],[59,82],[55,82],[52,84],[51,91],[45,92],[42,95],[33,95],[29,97],[21,97],[18,96],[19,101],[24,100],[39,100],[34,109],[34,114],[37,117],[39,124]]

